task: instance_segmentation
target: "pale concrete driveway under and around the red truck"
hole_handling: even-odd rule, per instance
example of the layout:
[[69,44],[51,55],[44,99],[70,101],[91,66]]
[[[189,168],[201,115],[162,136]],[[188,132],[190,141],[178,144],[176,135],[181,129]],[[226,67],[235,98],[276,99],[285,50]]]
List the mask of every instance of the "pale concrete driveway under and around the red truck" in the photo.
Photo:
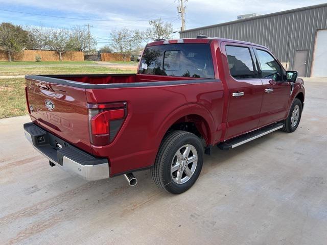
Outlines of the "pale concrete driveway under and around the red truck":
[[300,125],[205,156],[187,192],[149,171],[87,182],[33,150],[0,120],[0,244],[326,244],[327,81],[306,82]]

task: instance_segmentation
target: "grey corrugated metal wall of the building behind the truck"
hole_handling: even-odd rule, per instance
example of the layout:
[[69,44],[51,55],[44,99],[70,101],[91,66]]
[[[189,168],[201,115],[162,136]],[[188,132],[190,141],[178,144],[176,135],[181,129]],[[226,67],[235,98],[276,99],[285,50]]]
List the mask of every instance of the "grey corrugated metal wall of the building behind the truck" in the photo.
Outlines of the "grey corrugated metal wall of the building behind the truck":
[[309,50],[306,77],[310,77],[319,29],[327,29],[327,4],[186,30],[180,38],[203,34],[258,43],[268,47],[279,61],[290,62],[289,69],[293,67],[296,50]]

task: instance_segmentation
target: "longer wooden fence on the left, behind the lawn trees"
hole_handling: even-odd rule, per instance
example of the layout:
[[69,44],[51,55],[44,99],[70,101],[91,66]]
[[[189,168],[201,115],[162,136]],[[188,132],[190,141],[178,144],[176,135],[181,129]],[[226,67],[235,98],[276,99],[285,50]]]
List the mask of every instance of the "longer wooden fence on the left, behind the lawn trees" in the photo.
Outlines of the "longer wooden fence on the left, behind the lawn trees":
[[[59,61],[59,54],[56,51],[48,50],[23,50],[12,54],[14,61],[35,61],[36,56],[41,57],[41,61]],[[84,61],[84,53],[79,51],[69,51],[62,54],[63,61]],[[0,50],[0,61],[8,61],[7,51]]]

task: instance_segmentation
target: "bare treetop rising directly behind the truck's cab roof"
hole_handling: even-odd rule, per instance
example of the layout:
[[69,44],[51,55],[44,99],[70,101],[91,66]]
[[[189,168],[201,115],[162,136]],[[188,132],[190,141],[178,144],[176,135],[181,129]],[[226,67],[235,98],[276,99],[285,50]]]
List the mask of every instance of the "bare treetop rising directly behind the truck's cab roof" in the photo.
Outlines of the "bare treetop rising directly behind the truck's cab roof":
[[173,24],[159,19],[149,21],[150,28],[143,33],[145,41],[155,41],[157,39],[169,39],[173,33]]

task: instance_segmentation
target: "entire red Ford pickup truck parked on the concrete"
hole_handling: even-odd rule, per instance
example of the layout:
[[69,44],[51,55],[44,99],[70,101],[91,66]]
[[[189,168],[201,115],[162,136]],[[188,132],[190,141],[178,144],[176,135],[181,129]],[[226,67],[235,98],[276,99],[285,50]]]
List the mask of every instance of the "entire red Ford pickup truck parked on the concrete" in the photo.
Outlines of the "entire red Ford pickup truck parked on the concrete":
[[137,74],[26,76],[26,137],[50,165],[86,180],[151,169],[171,193],[197,180],[204,153],[296,130],[303,81],[264,46],[220,38],[161,40]]

